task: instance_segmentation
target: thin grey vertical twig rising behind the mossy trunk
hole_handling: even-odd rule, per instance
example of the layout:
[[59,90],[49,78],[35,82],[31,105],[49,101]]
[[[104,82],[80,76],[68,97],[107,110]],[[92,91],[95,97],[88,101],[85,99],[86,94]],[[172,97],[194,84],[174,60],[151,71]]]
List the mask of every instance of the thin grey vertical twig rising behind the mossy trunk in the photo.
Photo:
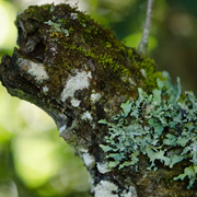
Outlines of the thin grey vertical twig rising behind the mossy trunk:
[[150,32],[150,26],[151,26],[153,2],[154,2],[154,0],[148,0],[146,24],[144,24],[141,40],[140,40],[139,45],[138,45],[138,51],[141,55],[144,55],[144,56],[147,55],[148,45],[149,45],[149,32]]

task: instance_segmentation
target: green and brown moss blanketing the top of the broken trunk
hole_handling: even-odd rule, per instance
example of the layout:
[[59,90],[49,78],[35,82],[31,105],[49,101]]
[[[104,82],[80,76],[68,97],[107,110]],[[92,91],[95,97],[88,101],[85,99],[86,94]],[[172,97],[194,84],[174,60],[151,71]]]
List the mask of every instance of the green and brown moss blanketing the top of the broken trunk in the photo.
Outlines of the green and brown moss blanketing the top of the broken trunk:
[[[30,35],[38,35],[39,43],[44,45],[46,71],[57,82],[51,88],[47,84],[54,97],[59,94],[59,78],[86,65],[88,60],[95,65],[96,74],[103,81],[113,84],[109,89],[114,92],[121,91],[119,86],[123,85],[130,89],[129,78],[135,85],[144,90],[155,88],[160,74],[155,72],[154,61],[126,47],[113,31],[78,11],[77,7],[63,3],[28,7],[18,16],[18,26],[21,21],[25,31]],[[91,69],[86,67],[86,70]],[[146,74],[142,74],[142,70]],[[99,86],[102,83],[99,81]],[[132,89],[136,92],[136,88]],[[130,91],[121,93],[131,94]]]

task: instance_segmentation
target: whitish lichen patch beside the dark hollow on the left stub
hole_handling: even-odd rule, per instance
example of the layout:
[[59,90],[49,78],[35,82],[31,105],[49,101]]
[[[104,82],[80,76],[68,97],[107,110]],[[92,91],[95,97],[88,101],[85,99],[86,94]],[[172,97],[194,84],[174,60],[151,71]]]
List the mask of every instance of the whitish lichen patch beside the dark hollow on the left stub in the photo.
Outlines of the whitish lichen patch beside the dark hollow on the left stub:
[[23,58],[19,58],[18,60],[18,66],[26,73],[34,77],[36,81],[43,82],[44,80],[47,80],[49,78],[47,72],[45,71],[45,67],[43,63],[36,63]]

